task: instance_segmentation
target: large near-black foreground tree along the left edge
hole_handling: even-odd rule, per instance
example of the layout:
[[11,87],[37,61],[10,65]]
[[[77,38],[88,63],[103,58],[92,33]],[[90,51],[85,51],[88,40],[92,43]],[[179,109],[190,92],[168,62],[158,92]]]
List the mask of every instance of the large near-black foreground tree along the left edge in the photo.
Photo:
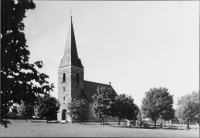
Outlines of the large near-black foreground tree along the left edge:
[[[48,75],[37,69],[42,61],[29,63],[23,18],[27,10],[34,9],[32,0],[1,1],[1,114],[5,118],[7,108],[13,103],[34,104],[38,95],[53,90],[53,84],[46,80]],[[7,125],[3,118],[1,124]]]

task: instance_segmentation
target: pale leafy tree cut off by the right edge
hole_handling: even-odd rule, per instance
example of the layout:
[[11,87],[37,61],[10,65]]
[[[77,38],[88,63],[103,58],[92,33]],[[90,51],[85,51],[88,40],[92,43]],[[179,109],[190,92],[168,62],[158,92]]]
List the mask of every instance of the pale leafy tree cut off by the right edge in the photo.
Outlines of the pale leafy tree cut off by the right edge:
[[199,93],[192,92],[186,94],[178,99],[178,107],[176,109],[176,117],[181,118],[187,123],[189,129],[189,123],[199,123]]

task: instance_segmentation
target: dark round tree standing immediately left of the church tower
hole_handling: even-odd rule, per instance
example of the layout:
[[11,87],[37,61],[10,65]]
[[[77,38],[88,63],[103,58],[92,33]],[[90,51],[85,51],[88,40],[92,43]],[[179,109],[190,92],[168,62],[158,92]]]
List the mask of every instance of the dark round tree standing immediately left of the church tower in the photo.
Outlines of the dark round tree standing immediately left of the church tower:
[[45,97],[44,100],[37,106],[39,116],[45,117],[46,121],[55,116],[59,110],[60,103],[55,97]]

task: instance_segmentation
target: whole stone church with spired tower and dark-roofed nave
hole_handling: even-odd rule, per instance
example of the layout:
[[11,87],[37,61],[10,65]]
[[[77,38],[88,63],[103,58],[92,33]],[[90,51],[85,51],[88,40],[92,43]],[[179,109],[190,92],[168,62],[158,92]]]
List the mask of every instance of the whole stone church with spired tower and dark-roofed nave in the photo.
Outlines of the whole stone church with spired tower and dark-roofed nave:
[[[86,99],[87,109],[79,121],[97,121],[92,114],[90,105],[92,104],[92,96],[97,92],[98,86],[112,88],[110,84],[101,84],[84,80],[84,67],[78,57],[75,34],[72,24],[69,27],[67,40],[63,58],[58,67],[58,100],[60,109],[57,119],[60,122],[71,122],[70,116],[67,114],[67,104],[76,99]],[[114,118],[108,117],[107,120]]]

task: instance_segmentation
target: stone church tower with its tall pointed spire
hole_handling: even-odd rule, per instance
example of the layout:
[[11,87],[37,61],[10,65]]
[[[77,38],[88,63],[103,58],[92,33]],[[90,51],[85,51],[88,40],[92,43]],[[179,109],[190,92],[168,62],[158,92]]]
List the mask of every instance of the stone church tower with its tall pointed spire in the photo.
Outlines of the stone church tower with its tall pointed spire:
[[80,98],[84,89],[84,67],[78,58],[72,16],[70,19],[65,51],[58,67],[58,100],[61,105],[57,119],[61,122],[71,122],[67,115],[67,104],[73,98]]

